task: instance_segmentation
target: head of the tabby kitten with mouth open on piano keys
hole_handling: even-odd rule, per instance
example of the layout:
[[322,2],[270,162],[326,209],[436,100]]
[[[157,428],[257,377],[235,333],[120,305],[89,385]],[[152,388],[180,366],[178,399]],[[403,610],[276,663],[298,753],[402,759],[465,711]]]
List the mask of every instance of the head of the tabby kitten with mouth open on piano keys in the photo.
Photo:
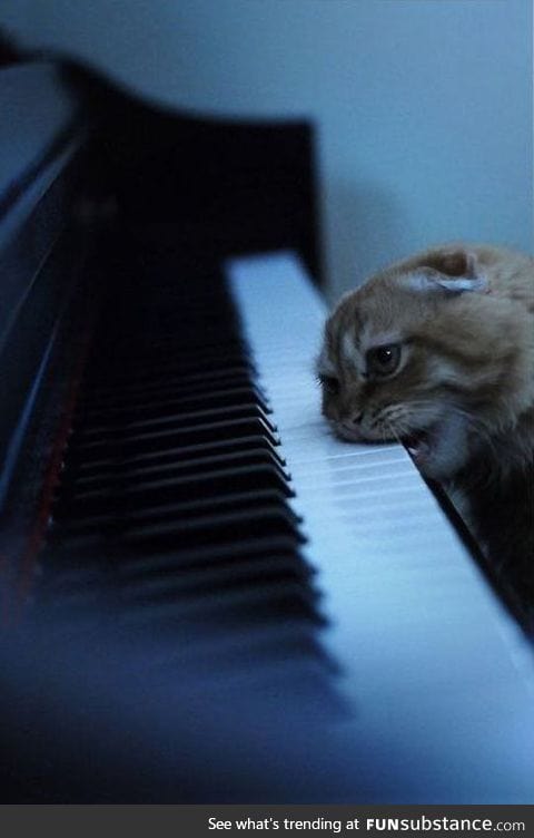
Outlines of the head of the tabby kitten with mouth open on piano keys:
[[476,250],[393,265],[326,323],[323,413],[339,437],[399,440],[428,477],[451,478],[522,409],[521,328]]

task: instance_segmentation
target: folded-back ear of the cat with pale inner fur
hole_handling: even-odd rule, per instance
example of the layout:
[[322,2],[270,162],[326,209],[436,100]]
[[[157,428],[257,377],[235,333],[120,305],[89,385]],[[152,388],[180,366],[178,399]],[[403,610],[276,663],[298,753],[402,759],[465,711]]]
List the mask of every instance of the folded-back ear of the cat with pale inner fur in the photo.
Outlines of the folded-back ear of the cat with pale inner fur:
[[438,251],[413,273],[400,277],[412,291],[446,291],[461,294],[465,291],[484,293],[487,277],[482,273],[476,255],[468,251]]

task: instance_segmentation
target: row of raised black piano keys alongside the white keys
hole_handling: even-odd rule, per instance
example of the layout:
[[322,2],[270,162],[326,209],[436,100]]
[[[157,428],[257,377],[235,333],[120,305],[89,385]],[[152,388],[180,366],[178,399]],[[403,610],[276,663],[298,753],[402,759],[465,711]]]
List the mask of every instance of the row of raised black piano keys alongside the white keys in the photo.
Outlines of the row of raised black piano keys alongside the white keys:
[[135,291],[103,306],[36,620],[62,637],[111,624],[190,690],[217,665],[228,683],[294,684],[335,710],[294,489],[224,277],[177,284],[155,260],[157,288],[152,263],[132,265]]

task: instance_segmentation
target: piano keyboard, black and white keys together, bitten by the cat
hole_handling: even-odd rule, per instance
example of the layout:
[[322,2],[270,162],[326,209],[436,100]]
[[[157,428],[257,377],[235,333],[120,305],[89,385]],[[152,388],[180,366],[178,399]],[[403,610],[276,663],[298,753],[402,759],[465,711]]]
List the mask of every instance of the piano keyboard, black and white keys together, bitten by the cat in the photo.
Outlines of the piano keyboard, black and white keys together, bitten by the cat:
[[[36,624],[119,637],[113,679],[164,679],[205,720],[226,695],[243,748],[267,703],[270,802],[532,802],[532,650],[404,449],[330,436],[298,261],[235,260],[229,295],[154,269],[122,265],[131,294],[106,303]],[[211,799],[257,801],[246,786]]]

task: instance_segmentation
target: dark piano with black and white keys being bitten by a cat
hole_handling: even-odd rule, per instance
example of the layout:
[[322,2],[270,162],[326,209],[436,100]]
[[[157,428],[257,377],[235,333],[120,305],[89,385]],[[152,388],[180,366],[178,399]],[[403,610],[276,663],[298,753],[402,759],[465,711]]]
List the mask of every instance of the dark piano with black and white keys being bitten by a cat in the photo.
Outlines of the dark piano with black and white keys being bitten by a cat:
[[531,640],[320,417],[312,127],[0,90],[2,802],[534,802]]

